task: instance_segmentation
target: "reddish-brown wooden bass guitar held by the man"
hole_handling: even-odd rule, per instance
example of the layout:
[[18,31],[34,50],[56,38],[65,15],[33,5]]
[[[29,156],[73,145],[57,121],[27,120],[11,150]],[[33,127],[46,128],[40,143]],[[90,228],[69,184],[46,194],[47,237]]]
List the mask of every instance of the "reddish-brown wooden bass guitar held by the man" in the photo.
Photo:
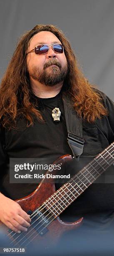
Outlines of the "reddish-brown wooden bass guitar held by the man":
[[[61,162],[64,165],[64,162],[71,160],[72,156],[64,155],[57,159],[54,164],[57,165],[58,162]],[[2,225],[11,240],[11,245],[26,247],[37,241],[40,245],[45,244],[46,247],[49,241],[50,243],[56,242],[64,231],[81,225],[83,218],[74,223],[66,223],[59,218],[59,215],[113,163],[114,142],[57,191],[55,190],[54,179],[53,182],[52,179],[51,182],[46,182],[43,178],[32,194],[16,200],[22,209],[30,214],[32,221],[27,232],[15,233]],[[49,173],[47,171],[47,174]]]

